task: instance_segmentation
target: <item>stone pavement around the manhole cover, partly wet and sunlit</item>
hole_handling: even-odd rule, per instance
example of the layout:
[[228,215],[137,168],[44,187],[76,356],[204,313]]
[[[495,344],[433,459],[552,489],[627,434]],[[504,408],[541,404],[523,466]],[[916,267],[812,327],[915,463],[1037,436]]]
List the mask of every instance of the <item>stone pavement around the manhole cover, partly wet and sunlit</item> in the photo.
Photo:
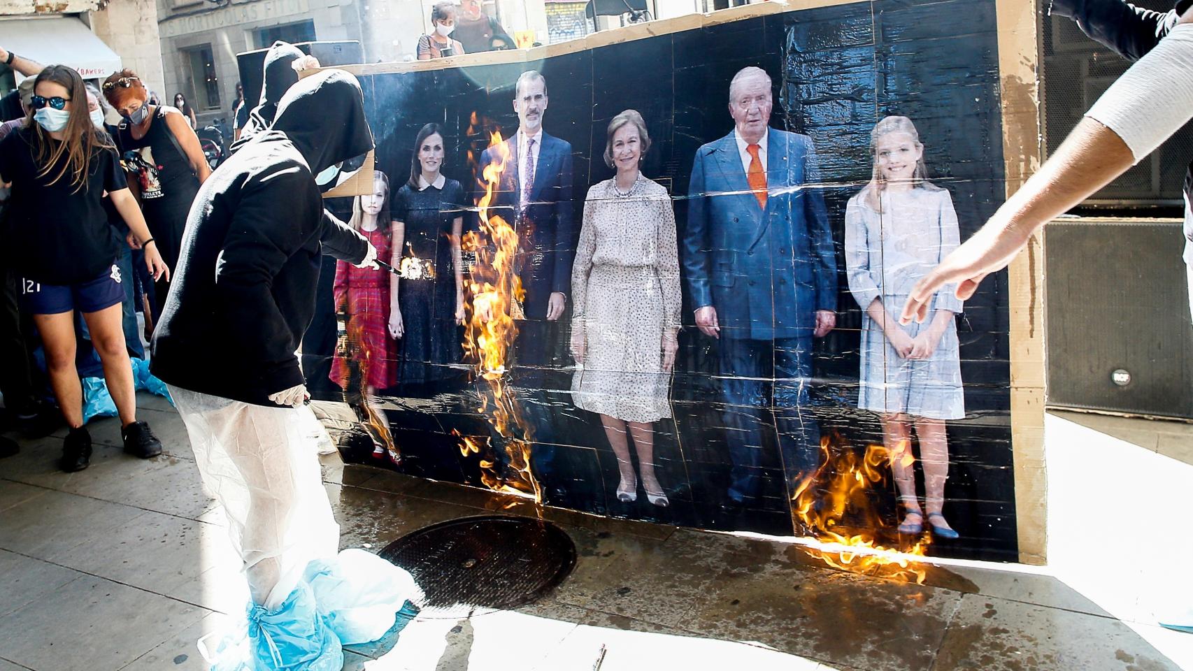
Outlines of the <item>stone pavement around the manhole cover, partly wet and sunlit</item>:
[[[183,424],[165,400],[141,403],[160,458],[123,454],[117,422],[101,420],[86,471],[57,471],[63,431],[0,460],[0,671],[205,669],[196,640],[243,609]],[[322,459],[341,547],[379,552],[446,520],[534,514],[519,499]],[[781,540],[544,516],[579,555],[545,599],[420,616],[351,648],[345,669],[589,671],[601,650],[601,671],[1193,669],[1193,635],[1141,609],[1112,616],[1096,590],[1049,569],[952,563],[915,585],[828,569]]]

